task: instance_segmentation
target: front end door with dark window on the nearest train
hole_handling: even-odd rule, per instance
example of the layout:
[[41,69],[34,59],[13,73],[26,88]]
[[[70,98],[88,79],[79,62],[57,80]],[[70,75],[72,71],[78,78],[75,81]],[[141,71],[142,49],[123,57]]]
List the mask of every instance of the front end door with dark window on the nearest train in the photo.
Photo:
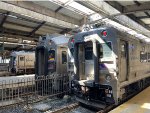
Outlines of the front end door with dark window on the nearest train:
[[94,79],[94,60],[92,42],[85,44],[85,75],[87,80]]

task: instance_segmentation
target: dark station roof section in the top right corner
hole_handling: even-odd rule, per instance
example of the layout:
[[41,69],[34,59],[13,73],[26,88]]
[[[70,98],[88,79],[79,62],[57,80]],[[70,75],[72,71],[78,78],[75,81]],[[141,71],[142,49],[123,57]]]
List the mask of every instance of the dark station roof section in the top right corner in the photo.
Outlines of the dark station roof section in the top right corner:
[[106,1],[109,5],[125,14],[144,28],[150,30],[150,1]]

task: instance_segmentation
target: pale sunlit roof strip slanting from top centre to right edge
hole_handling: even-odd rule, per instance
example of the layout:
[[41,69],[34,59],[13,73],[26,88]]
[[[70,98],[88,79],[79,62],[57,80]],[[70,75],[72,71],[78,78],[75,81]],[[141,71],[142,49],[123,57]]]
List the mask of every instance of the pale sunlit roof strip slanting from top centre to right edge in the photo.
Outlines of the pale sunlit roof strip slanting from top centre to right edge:
[[[96,0],[92,0],[92,1],[87,0],[87,1],[80,1],[80,2],[82,3],[82,5],[99,13],[102,16],[102,19],[112,17],[110,19],[113,19],[124,26],[127,26],[135,31],[138,31],[141,34],[144,34],[145,36],[150,37],[149,29],[147,29],[146,27],[143,27],[142,25],[135,22],[128,16],[122,14],[121,11],[111,6],[107,2],[96,1]],[[114,15],[117,15],[117,16],[114,16]],[[90,23],[93,23],[93,24],[98,23],[98,22],[101,22],[102,19],[98,18],[97,20],[91,21]]]

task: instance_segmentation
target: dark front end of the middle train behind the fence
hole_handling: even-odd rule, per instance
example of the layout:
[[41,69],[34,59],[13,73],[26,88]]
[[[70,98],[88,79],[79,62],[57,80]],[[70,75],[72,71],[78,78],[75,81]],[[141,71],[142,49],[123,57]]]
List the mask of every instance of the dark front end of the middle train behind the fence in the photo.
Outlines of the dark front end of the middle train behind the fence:
[[49,38],[43,36],[35,51],[35,76],[48,76],[56,71],[55,46]]

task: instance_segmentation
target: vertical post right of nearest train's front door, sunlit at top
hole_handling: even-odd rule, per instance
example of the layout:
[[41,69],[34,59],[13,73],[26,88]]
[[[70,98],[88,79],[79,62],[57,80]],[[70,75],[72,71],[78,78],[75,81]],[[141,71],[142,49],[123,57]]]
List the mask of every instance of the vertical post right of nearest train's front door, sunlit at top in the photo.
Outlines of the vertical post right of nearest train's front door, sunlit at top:
[[93,60],[94,60],[94,82],[99,83],[99,58],[97,53],[96,40],[93,41]]

